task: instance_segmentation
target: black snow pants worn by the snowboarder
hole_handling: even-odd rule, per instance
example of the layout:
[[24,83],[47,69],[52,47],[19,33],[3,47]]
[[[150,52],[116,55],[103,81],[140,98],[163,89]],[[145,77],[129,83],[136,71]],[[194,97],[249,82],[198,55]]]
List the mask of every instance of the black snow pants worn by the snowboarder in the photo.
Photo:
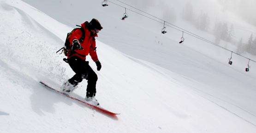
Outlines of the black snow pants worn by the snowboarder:
[[98,80],[97,74],[89,66],[89,61],[84,61],[77,56],[67,59],[69,66],[76,73],[68,81],[77,86],[83,79],[87,80],[86,97],[92,97],[96,94],[96,82]]

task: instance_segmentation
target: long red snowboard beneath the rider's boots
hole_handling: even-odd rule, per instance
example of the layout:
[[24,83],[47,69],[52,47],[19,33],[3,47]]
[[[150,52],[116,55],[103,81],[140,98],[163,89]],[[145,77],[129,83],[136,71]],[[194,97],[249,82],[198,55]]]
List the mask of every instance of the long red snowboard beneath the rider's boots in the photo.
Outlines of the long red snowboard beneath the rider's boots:
[[[40,81],[39,83],[42,83],[42,82]],[[44,86],[48,87],[49,89],[53,89],[53,88],[51,88],[50,86],[48,86],[47,84],[45,84],[45,83],[42,83],[42,84],[43,84]],[[82,102],[82,103],[84,103],[84,104],[86,104],[86,105],[89,105],[89,106],[93,107],[95,110],[102,111],[102,112],[105,112],[105,113],[110,114],[110,115],[119,115],[119,114],[117,114],[117,113],[113,113],[113,112],[107,111],[107,110],[105,110],[105,109],[99,108],[99,107],[97,107],[97,106],[95,106],[95,105],[91,105],[91,104],[89,104],[89,103],[86,103],[86,102],[84,102],[84,101],[82,101],[82,100],[78,100],[78,99],[76,99],[76,98],[74,98],[74,97],[71,97],[70,95],[65,94],[65,93],[63,93],[63,92],[60,92],[60,91],[58,91],[58,90],[56,90],[56,89],[53,89],[53,90],[56,91],[56,92],[59,92],[60,94],[64,94],[65,96],[67,96],[67,97],[69,97],[69,98],[71,98],[71,99],[73,99],[73,100],[77,100],[77,101],[80,101],[80,102]]]

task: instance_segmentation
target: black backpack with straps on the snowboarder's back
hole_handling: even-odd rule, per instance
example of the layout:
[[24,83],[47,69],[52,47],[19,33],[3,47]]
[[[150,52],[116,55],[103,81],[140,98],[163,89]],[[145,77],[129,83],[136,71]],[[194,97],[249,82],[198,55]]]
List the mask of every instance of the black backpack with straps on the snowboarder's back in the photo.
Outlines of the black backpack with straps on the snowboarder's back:
[[[76,26],[81,27],[81,26],[79,26],[79,25],[76,25]],[[62,50],[60,54],[62,54],[62,52],[63,52],[64,55],[67,56],[67,54],[71,54],[72,52],[75,52],[75,51],[72,51],[72,50],[71,50],[72,47],[71,47],[71,45],[70,45],[69,38],[70,38],[71,34],[72,34],[74,31],[76,31],[77,29],[80,29],[80,30],[82,31],[82,33],[83,33],[83,34],[82,34],[82,37],[79,39],[79,42],[80,42],[80,43],[83,43],[83,40],[84,40],[84,38],[85,38],[85,32],[84,32],[83,28],[82,28],[82,27],[81,27],[81,28],[74,28],[70,33],[67,33],[66,41],[65,41],[64,47],[60,49],[60,50]],[[56,54],[57,54],[60,50],[58,50],[58,51],[56,52]],[[75,53],[76,53],[76,52],[75,52]],[[74,54],[74,53],[73,53],[73,54]]]

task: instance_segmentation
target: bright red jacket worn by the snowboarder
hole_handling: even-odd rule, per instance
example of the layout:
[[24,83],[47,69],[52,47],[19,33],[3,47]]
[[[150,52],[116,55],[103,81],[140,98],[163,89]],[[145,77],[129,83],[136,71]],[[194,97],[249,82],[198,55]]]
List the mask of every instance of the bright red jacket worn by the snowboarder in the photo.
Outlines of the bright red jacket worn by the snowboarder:
[[[81,58],[82,60],[85,61],[86,57],[85,56],[81,56],[81,55],[89,55],[91,56],[93,61],[98,61],[98,56],[96,53],[96,43],[95,43],[95,37],[98,37],[97,34],[95,34],[94,36],[90,36],[90,32],[87,29],[87,24],[89,24],[89,22],[84,22],[81,24],[84,32],[85,32],[85,38],[83,40],[83,43],[80,42],[81,46],[83,47],[83,50],[76,50],[76,52],[78,54],[73,54],[71,56],[69,56],[70,54],[68,54],[68,58],[73,57],[73,56],[78,56],[79,58]],[[70,45],[72,45],[72,42],[74,39],[79,40],[82,37],[83,33],[80,29],[75,30],[71,36],[70,36]]]

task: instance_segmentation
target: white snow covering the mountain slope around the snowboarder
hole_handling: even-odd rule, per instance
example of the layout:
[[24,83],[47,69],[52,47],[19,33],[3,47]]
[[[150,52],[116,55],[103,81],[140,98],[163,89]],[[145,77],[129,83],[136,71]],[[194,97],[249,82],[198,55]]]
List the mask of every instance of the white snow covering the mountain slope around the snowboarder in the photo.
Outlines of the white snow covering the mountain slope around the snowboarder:
[[[179,14],[186,1],[167,5]],[[256,132],[256,63],[251,61],[250,72],[245,72],[248,60],[241,56],[233,55],[228,65],[229,51],[186,34],[179,44],[181,32],[167,27],[161,34],[160,23],[132,12],[121,21],[123,8],[110,3],[101,7],[101,2],[0,0],[0,133]],[[216,0],[203,3],[213,18],[226,18],[242,29],[235,28],[235,39],[248,34],[246,40],[255,30],[231,12],[212,13],[221,10]],[[153,6],[149,13],[161,16],[162,10]],[[74,75],[62,61],[65,56],[55,52],[66,33],[92,18],[103,27],[96,38],[101,71],[87,58],[98,75],[96,99],[101,107],[120,113],[117,116],[92,110],[39,83],[58,89]],[[175,24],[214,41],[213,35],[179,16]],[[224,41],[220,45],[236,50]],[[255,55],[244,56],[256,61]],[[72,95],[83,100],[86,85],[80,83]]]

